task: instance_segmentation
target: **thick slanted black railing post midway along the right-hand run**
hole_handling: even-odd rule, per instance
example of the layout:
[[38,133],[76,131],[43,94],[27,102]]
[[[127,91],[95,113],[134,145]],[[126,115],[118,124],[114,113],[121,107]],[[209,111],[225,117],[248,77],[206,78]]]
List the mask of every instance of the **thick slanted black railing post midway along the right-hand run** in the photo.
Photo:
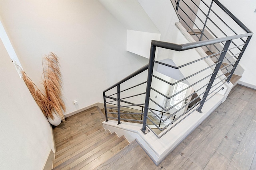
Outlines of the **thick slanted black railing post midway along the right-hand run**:
[[208,84],[208,86],[207,86],[207,88],[206,88],[206,92],[204,93],[204,96],[203,96],[203,98],[202,98],[202,101],[200,102],[200,107],[198,107],[198,109],[196,109],[198,112],[200,112],[200,113],[202,113],[202,111],[201,111],[201,109],[202,109],[202,107],[204,106],[204,102],[205,102],[205,100],[206,100],[206,98],[207,98],[207,96],[208,96],[208,94],[209,94],[209,92],[210,92],[210,90],[211,90],[211,88],[212,88],[212,84],[213,84],[213,82],[214,82],[214,79],[216,78],[216,75],[217,75],[217,73],[218,73],[218,70],[220,70],[220,66],[221,66],[221,64],[222,64],[222,61],[223,61],[223,59],[224,59],[224,57],[225,57],[225,55],[226,55],[226,53],[227,53],[227,51],[228,51],[228,47],[229,47],[229,45],[230,45],[230,43],[231,43],[231,40],[229,40],[229,41],[226,41],[226,43],[225,43],[225,45],[224,45],[224,48],[223,48],[223,53],[221,53],[221,55],[220,55],[220,57],[219,57],[219,60],[218,60],[218,64],[215,66],[215,69],[214,69],[214,74],[212,74],[212,76],[211,76],[211,78],[210,78],[210,83]]

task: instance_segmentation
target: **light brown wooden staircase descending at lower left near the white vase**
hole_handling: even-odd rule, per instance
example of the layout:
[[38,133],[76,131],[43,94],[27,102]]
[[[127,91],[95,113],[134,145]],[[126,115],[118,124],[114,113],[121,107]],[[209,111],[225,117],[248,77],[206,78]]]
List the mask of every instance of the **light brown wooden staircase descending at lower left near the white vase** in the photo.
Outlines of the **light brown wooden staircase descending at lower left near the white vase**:
[[102,128],[104,118],[98,110],[93,107],[72,115],[66,118],[66,123],[54,128],[57,151],[54,170],[94,169],[132,145],[124,136],[118,137]]

